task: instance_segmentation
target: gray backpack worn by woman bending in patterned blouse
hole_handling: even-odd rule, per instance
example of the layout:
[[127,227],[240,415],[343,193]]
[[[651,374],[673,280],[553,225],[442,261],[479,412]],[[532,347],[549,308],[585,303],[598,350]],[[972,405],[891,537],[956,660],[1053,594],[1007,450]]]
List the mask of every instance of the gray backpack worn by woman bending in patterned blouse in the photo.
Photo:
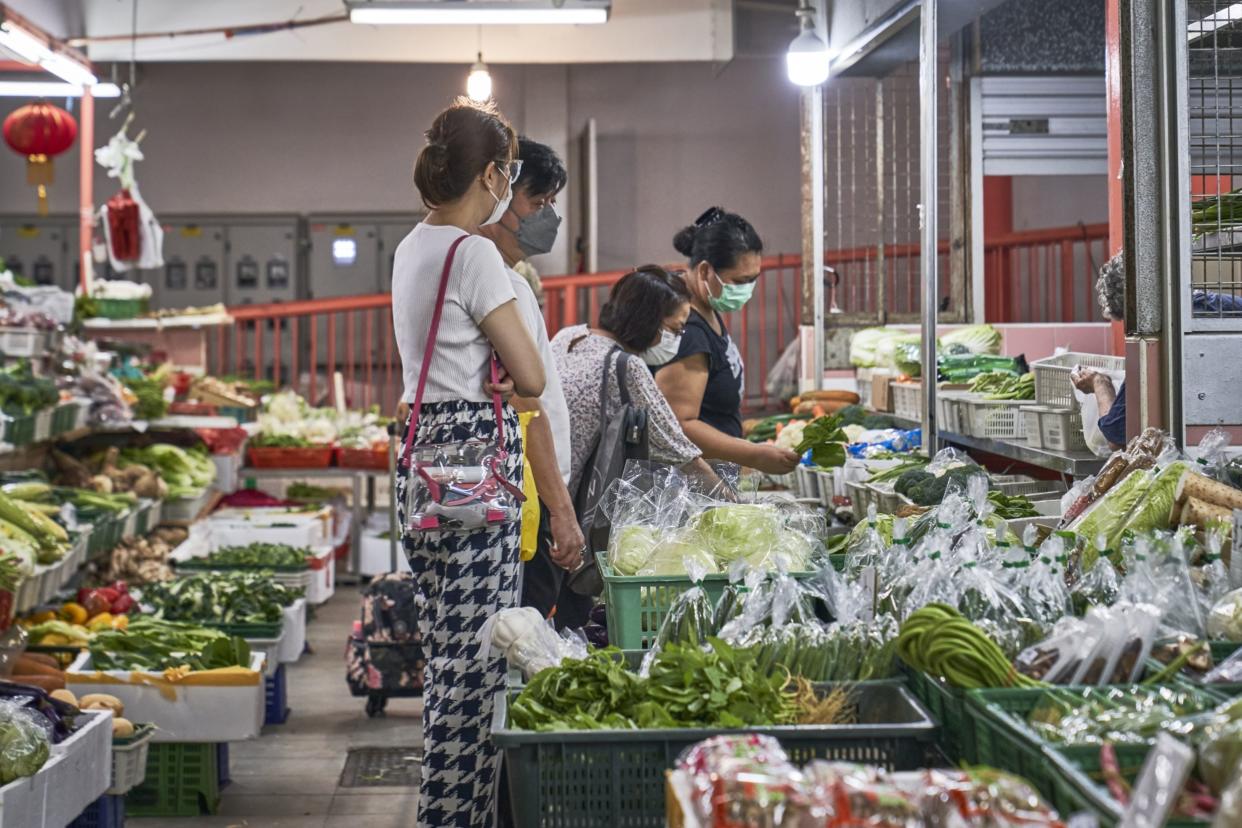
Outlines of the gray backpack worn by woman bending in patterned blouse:
[[[628,461],[645,461],[648,456],[647,410],[630,401],[626,371],[630,354],[614,348],[604,361],[604,379],[600,382],[600,436],[586,458],[582,478],[574,495],[574,510],[586,539],[585,565],[566,576],[570,590],[578,595],[599,595],[604,591],[604,578],[596,560],[609,547],[612,523],[600,508],[612,480],[621,477]],[[609,382],[616,365],[616,382],[621,391],[621,407],[609,411]]]

